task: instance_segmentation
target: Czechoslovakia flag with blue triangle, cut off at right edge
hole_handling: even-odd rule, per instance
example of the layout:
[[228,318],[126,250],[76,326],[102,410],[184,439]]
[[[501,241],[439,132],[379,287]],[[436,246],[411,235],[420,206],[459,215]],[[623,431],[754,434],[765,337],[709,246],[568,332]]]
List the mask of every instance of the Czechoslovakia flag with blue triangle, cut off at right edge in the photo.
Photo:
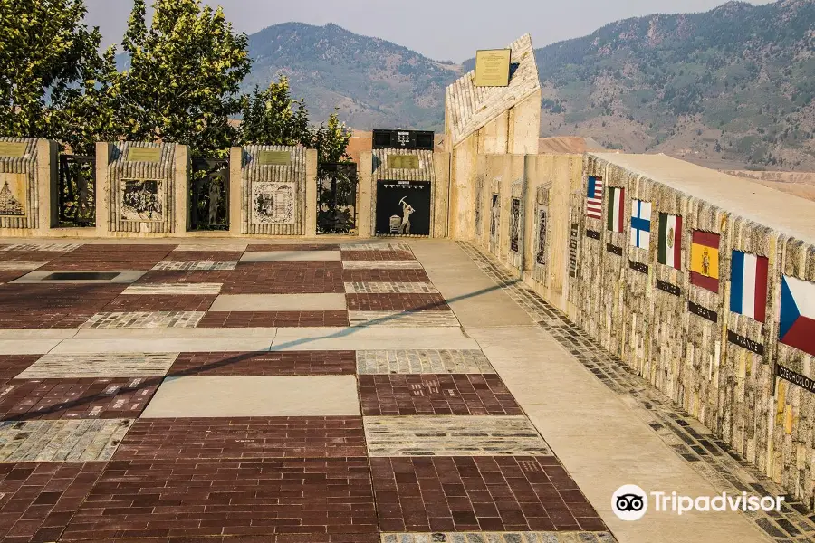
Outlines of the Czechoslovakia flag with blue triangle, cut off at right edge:
[[815,355],[815,283],[783,276],[778,338],[781,343]]

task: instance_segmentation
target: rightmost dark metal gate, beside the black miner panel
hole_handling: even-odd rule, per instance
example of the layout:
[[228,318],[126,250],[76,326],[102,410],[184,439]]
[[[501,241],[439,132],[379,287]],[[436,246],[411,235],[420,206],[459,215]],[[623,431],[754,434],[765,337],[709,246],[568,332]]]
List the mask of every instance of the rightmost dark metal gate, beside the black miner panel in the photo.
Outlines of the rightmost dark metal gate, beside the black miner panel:
[[357,165],[327,162],[317,179],[317,233],[357,231]]

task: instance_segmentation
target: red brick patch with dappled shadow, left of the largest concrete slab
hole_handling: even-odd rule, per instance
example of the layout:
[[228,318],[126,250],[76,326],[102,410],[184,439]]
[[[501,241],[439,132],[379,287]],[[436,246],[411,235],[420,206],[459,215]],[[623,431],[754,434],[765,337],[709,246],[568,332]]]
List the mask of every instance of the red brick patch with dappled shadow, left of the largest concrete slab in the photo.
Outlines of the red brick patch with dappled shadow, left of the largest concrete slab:
[[158,378],[15,379],[0,386],[0,420],[135,418]]

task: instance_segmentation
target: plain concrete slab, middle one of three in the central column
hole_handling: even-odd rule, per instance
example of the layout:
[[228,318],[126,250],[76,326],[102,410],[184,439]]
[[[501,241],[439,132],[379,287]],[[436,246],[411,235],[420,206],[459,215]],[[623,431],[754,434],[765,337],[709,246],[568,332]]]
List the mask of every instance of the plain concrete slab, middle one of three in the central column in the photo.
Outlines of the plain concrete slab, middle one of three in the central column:
[[210,311],[345,310],[345,294],[221,294]]

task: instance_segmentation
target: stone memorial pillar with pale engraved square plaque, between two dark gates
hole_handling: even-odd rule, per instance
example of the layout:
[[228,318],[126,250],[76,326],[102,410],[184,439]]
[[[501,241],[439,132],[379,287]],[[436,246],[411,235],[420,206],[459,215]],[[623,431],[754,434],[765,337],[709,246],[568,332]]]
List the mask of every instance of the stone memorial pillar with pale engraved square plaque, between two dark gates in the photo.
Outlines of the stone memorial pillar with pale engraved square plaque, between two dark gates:
[[[306,180],[309,178],[306,154],[307,149],[299,146],[244,148],[240,233],[302,235],[306,232]],[[312,182],[316,183],[313,179]]]

